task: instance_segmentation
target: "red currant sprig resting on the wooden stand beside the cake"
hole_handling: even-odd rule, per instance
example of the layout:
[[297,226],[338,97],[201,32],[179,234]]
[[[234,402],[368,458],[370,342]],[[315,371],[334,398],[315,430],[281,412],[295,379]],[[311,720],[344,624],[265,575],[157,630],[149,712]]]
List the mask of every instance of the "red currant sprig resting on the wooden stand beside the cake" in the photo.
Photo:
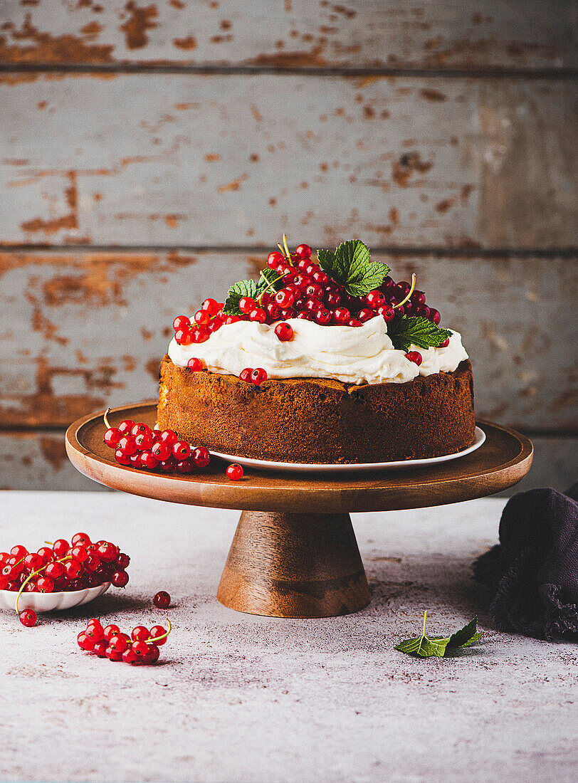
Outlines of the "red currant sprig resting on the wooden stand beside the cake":
[[110,408],[104,414],[107,431],[104,442],[114,449],[118,464],[130,467],[155,468],[162,473],[187,474],[197,467],[207,467],[211,456],[204,446],[191,447],[179,440],[172,430],[151,430],[142,421],[130,419],[121,421],[118,427],[111,427],[107,419]]

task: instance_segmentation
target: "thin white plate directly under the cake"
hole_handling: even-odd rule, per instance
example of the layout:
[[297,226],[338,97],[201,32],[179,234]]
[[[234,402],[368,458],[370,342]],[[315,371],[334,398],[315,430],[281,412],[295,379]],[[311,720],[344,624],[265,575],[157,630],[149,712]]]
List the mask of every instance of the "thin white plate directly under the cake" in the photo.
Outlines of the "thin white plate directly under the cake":
[[233,454],[222,454],[218,451],[211,451],[215,456],[221,456],[229,462],[237,462],[243,467],[258,467],[259,470],[268,471],[292,471],[294,473],[369,473],[371,471],[393,471],[399,468],[407,467],[426,467],[428,465],[437,465],[439,462],[448,460],[457,460],[461,456],[471,454],[475,449],[479,449],[486,440],[486,433],[479,427],[475,428],[475,439],[471,446],[463,451],[457,451],[453,454],[444,454],[443,456],[432,456],[425,460],[400,460],[399,462],[360,462],[356,465],[338,465],[338,464],[306,464],[302,462],[271,462],[269,460],[251,460],[247,456],[234,456]]

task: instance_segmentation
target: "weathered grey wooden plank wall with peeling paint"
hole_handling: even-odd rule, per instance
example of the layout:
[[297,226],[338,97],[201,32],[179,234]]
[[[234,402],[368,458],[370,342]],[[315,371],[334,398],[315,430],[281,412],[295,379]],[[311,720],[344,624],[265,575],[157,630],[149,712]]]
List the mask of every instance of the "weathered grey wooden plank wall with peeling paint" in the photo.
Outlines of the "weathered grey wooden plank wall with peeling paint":
[[576,478],[574,33],[556,0],[0,3],[0,486],[86,486],[63,428],[153,397],[173,314],[284,231],[415,269],[479,414]]

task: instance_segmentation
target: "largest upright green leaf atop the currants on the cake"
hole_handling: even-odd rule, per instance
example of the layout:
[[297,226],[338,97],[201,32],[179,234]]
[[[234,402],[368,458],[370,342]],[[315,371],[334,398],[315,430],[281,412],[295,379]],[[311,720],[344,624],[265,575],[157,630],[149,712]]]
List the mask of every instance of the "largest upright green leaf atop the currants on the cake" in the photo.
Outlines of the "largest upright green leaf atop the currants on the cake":
[[370,251],[360,240],[341,242],[334,253],[318,250],[317,261],[352,296],[364,296],[380,287],[389,272],[388,265],[370,261]]

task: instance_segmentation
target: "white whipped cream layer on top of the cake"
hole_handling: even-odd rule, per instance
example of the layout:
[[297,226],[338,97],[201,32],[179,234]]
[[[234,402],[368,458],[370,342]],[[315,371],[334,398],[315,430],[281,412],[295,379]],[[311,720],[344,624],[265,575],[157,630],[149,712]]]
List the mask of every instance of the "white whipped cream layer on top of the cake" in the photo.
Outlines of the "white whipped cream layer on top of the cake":
[[193,356],[208,370],[222,375],[239,375],[245,367],[262,367],[269,378],[334,378],[348,384],[403,384],[417,375],[455,370],[468,359],[461,335],[453,332],[446,348],[417,348],[421,366],[396,351],[388,337],[387,323],[372,318],[360,327],[322,327],[300,318],[288,319],[293,339],[281,342],[276,323],[237,321],[224,324],[204,343],[168,346],[173,364],[186,367]]

